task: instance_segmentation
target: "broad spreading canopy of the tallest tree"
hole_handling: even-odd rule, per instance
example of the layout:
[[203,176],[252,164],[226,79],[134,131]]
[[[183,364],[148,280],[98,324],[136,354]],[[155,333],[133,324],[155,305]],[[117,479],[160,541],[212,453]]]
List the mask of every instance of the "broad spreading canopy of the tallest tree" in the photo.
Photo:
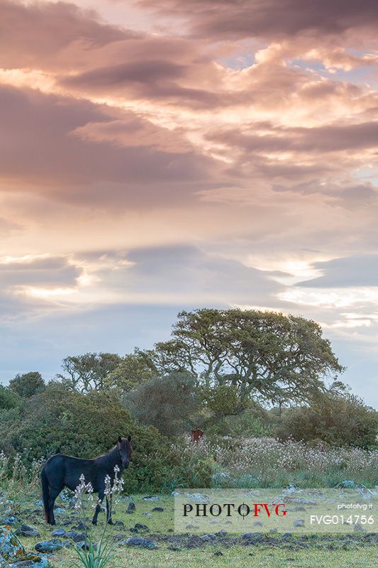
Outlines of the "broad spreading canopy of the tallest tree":
[[343,371],[319,324],[257,310],[180,312],[172,339],[148,353],[160,373],[189,371],[206,388],[235,386],[241,403],[311,400]]

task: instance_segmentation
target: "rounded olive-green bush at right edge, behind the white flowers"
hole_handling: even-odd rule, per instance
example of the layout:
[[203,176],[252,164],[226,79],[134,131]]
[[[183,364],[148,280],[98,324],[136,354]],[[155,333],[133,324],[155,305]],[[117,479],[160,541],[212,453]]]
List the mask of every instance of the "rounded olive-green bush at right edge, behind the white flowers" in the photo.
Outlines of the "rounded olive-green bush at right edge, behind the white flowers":
[[284,410],[277,435],[333,446],[369,448],[377,443],[378,413],[350,394],[318,395],[311,406]]

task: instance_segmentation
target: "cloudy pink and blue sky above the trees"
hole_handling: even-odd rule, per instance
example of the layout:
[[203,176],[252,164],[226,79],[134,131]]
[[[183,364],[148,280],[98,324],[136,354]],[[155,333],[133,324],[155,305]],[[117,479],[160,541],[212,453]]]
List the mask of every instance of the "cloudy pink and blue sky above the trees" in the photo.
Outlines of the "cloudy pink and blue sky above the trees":
[[0,2],[0,382],[316,320],[378,408],[375,0]]

